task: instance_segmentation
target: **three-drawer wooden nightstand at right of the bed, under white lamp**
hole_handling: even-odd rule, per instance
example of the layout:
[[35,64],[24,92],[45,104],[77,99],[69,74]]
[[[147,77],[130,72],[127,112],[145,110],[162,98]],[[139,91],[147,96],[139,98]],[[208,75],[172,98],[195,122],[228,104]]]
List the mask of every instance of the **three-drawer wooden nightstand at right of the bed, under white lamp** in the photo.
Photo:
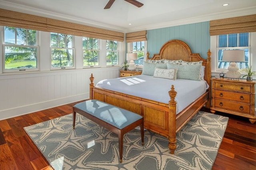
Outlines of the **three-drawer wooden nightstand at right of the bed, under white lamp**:
[[212,78],[211,112],[220,111],[247,117],[251,123],[255,123],[255,83],[256,81]]

